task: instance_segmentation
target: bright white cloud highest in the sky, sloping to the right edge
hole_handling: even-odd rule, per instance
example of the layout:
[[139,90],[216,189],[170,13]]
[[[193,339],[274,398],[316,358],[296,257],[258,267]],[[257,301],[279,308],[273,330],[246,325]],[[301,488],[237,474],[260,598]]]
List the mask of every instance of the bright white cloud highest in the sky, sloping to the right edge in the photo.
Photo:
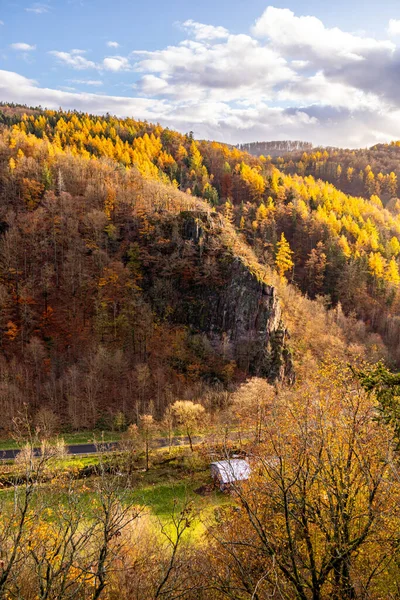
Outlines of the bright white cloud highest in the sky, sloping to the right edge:
[[[272,6],[264,11],[252,31],[265,38],[267,45],[281,56],[292,60],[293,68],[293,59],[307,61],[307,75],[300,69],[301,76],[312,78],[322,71],[331,82],[399,104],[400,51],[393,41],[327,28],[316,17],[296,16],[291,10]],[[360,98],[356,95],[355,101]],[[317,92],[315,102],[321,104]]]

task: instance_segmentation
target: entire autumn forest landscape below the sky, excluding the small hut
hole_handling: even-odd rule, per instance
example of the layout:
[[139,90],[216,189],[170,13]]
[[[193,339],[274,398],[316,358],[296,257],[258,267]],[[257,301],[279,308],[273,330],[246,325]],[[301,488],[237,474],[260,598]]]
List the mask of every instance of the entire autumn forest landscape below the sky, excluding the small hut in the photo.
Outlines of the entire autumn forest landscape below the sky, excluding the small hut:
[[0,106],[0,598],[400,598],[399,196],[400,142]]

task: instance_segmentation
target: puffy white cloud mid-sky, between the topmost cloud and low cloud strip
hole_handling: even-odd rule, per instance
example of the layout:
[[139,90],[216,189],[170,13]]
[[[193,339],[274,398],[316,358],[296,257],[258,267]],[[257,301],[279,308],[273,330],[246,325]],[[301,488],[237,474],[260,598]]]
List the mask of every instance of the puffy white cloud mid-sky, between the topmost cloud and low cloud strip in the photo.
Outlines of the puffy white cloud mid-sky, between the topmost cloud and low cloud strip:
[[[285,58],[244,34],[214,44],[185,40],[179,46],[134,55],[139,58],[135,68],[156,75],[160,90],[175,97],[219,99],[223,90],[225,100],[267,98],[274,86],[296,78]],[[148,93],[148,76],[141,83]]]

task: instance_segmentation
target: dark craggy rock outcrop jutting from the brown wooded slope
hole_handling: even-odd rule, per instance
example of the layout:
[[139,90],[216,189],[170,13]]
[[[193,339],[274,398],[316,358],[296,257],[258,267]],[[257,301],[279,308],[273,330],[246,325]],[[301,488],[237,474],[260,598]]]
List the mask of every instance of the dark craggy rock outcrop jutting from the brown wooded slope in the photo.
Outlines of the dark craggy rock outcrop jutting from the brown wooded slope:
[[164,244],[153,247],[157,272],[147,271],[152,304],[205,334],[216,352],[245,372],[293,380],[276,290],[221,242],[222,228],[221,218],[206,212],[183,212],[164,224]]

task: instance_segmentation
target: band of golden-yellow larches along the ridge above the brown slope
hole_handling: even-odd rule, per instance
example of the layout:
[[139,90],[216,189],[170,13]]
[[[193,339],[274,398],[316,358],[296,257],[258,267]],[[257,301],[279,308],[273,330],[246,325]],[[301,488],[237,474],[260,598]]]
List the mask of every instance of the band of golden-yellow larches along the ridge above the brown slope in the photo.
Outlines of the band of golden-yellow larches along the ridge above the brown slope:
[[[54,111],[18,111],[2,118],[11,127],[9,169],[21,182],[28,209],[35,208],[46,189],[60,187],[49,160],[41,167],[39,185],[24,177],[25,152],[20,146],[33,147],[42,139],[55,156],[67,150],[84,160],[108,158],[121,170],[172,183],[202,197],[230,221],[263,264],[275,266],[283,233],[294,263],[294,268],[288,265],[286,277],[311,298],[324,296],[333,307],[340,302],[346,314],[354,313],[385,337],[397,360],[400,218],[395,201],[393,209],[383,207],[380,188],[371,188],[366,196],[348,196],[333,184],[302,176],[301,169],[285,174],[263,156],[196,142],[190,135],[132,119]],[[62,189],[62,171],[60,177]],[[385,182],[393,196],[396,177],[389,174]],[[115,190],[109,186],[107,194],[109,218]]]

